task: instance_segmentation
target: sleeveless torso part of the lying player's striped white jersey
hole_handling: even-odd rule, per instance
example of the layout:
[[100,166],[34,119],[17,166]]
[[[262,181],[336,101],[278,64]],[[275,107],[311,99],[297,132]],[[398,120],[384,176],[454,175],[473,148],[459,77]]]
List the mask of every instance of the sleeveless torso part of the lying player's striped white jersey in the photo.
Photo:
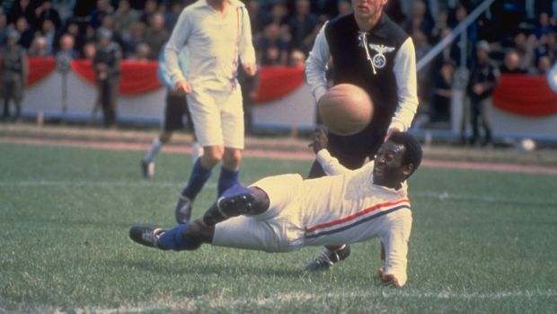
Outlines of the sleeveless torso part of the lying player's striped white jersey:
[[353,243],[377,237],[368,221],[410,210],[406,185],[393,190],[373,184],[373,164],[345,175],[305,180],[301,186],[305,245]]

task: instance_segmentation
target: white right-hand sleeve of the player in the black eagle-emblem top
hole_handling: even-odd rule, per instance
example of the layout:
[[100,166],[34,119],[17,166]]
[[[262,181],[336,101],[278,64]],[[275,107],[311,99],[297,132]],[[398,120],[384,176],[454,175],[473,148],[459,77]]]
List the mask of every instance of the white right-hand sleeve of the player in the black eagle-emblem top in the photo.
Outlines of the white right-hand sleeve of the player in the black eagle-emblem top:
[[416,52],[409,37],[394,56],[394,76],[398,94],[398,104],[390,128],[402,131],[410,129],[418,110],[418,81],[416,78]]

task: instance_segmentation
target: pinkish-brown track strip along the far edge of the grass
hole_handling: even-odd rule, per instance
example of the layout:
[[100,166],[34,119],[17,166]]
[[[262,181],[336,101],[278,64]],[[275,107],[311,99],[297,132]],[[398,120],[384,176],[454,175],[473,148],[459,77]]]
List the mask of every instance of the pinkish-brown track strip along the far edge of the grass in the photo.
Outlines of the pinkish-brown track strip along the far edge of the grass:
[[[58,146],[69,148],[98,148],[110,150],[131,150],[146,151],[150,143],[129,143],[123,141],[99,141],[99,140],[80,140],[80,139],[37,139],[26,137],[0,137],[0,143],[5,144],[28,144],[41,146]],[[163,149],[164,153],[191,154],[191,148],[185,146],[168,145]],[[303,151],[283,151],[272,149],[248,149],[243,152],[244,157],[261,157],[290,160],[313,160],[314,154],[308,149]],[[424,159],[421,166],[431,168],[450,168],[465,170],[483,170],[497,172],[513,172],[526,174],[557,175],[557,168],[551,166],[522,166],[508,163],[486,163],[469,161],[449,161]]]

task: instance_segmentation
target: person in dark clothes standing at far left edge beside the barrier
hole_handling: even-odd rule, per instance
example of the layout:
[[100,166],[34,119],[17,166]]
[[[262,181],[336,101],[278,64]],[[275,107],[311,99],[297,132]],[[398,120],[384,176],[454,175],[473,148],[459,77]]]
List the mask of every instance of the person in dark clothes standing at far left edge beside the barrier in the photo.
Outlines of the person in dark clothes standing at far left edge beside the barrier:
[[4,48],[0,49],[0,73],[2,74],[2,90],[4,95],[4,118],[10,116],[10,100],[15,103],[15,119],[22,115],[23,90],[27,83],[28,60],[23,49],[17,42],[19,33],[9,30]]

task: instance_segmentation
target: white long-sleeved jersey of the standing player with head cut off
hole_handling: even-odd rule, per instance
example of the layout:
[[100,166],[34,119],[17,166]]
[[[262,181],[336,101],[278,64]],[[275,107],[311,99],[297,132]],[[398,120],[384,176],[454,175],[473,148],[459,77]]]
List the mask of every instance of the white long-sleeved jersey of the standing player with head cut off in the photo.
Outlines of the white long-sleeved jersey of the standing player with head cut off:
[[[236,78],[238,58],[255,64],[252,28],[245,6],[238,0],[229,1],[225,15],[217,13],[206,0],[190,4],[180,14],[164,50],[174,84],[186,79],[196,85],[229,90]],[[190,49],[190,72],[182,76],[178,52]]]

